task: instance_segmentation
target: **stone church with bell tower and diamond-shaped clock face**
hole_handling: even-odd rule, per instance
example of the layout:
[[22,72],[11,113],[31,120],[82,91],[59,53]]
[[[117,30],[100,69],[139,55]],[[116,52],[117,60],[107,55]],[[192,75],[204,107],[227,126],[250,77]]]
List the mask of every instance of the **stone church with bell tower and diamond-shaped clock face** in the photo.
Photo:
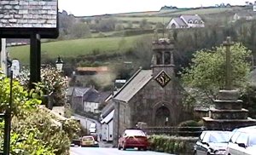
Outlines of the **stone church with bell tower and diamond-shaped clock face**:
[[174,43],[153,42],[151,70],[139,69],[113,96],[113,141],[138,122],[148,126],[173,126],[182,122],[183,88],[174,73]]

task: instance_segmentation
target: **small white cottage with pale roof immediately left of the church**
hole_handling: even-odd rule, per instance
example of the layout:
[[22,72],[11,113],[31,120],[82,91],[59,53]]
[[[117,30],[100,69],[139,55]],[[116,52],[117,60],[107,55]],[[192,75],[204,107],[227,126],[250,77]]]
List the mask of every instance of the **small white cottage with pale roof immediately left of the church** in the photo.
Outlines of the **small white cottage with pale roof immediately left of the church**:
[[113,113],[114,110],[103,118],[102,123],[102,141],[113,141]]

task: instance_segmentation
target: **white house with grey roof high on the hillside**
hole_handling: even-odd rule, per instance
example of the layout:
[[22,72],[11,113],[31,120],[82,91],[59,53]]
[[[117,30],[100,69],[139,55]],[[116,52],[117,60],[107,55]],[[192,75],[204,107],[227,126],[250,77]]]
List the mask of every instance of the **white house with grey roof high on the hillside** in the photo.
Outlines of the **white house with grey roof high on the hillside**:
[[198,14],[195,15],[181,15],[179,17],[172,18],[166,29],[178,29],[178,28],[194,28],[205,27],[204,21]]

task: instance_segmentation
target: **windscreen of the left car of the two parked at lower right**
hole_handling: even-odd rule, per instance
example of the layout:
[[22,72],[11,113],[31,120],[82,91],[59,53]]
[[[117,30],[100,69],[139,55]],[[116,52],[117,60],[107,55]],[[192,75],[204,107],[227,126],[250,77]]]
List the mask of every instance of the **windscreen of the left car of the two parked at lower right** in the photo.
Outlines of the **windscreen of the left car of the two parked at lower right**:
[[209,137],[209,142],[214,143],[224,143],[230,141],[230,133],[229,132],[218,132],[211,133]]

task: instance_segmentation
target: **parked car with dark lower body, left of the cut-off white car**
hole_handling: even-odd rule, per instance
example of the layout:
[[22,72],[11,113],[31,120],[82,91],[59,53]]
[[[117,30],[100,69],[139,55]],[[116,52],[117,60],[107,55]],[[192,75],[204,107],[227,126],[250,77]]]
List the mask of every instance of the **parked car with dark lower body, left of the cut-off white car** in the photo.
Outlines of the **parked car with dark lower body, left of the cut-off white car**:
[[225,154],[231,131],[206,130],[203,131],[194,146],[195,155]]

